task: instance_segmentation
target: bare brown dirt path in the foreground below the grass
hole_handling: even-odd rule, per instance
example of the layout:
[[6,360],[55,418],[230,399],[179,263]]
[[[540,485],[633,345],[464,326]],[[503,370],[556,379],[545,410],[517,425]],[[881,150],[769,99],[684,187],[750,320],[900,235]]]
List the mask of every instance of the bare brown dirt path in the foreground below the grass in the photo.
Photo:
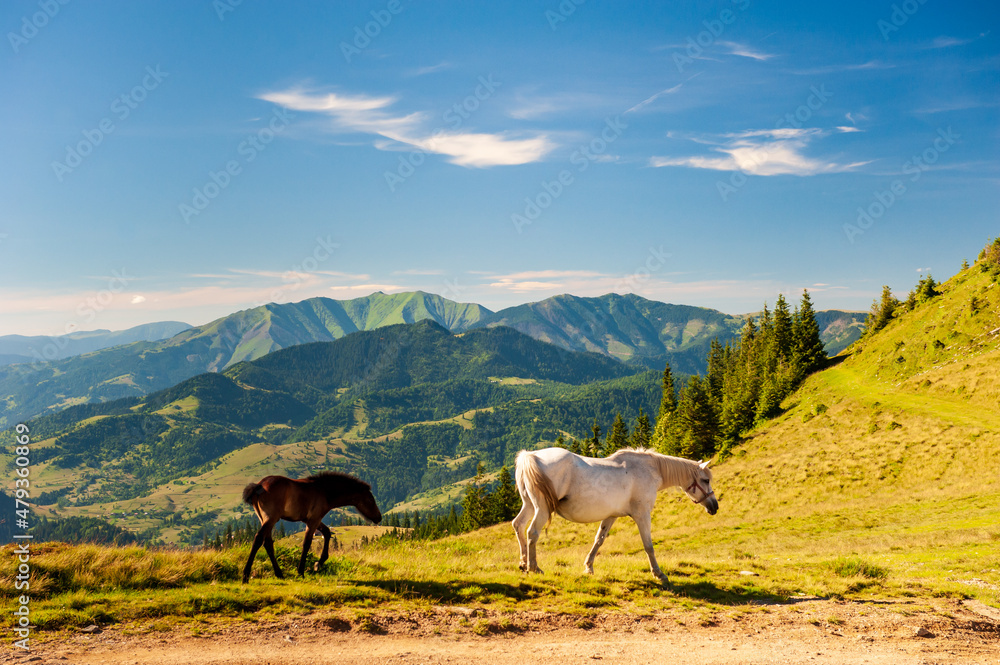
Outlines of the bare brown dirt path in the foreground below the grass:
[[[920,634],[918,634],[920,631]],[[195,635],[200,632],[200,635]],[[480,635],[479,633],[482,633]],[[592,620],[462,608],[347,620],[192,623],[51,636],[2,663],[316,665],[317,663],[1000,664],[1000,611],[975,602],[813,600],[725,615],[700,611]]]

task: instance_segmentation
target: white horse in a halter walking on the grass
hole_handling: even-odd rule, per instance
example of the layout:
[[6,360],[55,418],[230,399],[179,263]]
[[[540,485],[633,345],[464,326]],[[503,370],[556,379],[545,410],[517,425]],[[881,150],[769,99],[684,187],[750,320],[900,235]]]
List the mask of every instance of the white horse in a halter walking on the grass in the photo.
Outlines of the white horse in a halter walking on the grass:
[[650,533],[650,513],[657,492],[667,487],[681,487],[709,515],[719,510],[708,462],[699,464],[651,450],[626,448],[604,459],[580,457],[563,448],[522,450],[517,454],[515,477],[523,505],[512,524],[521,549],[520,567],[527,572],[541,572],[535,544],[553,514],[562,515],[571,522],[601,523],[594,546],[583,564],[587,573],[594,572],[594,557],[611,525],[627,515],[639,527],[650,570],[666,582],[666,575],[656,564]]

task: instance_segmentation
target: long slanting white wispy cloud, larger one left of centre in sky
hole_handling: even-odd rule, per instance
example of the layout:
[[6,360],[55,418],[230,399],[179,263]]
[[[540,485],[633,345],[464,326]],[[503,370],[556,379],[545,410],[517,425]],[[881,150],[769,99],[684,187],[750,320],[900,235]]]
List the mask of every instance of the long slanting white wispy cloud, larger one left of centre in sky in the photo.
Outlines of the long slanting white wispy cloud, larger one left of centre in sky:
[[[260,99],[293,111],[327,116],[331,129],[340,132],[374,134],[425,152],[445,155],[452,164],[465,167],[514,166],[542,160],[556,146],[545,134],[520,137],[510,132],[460,132],[427,129],[427,115],[394,114],[395,97],[368,97],[319,93],[305,88],[268,92]],[[378,149],[391,144],[376,141]]]

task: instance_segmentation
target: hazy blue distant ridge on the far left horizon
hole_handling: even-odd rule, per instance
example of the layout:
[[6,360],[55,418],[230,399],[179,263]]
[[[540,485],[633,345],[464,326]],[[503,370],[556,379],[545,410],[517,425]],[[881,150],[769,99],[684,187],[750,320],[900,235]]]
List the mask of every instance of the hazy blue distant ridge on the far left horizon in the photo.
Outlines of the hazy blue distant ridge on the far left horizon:
[[191,327],[180,321],[146,323],[128,330],[88,330],[67,335],[2,335],[0,365],[47,362],[132,342],[157,342]]

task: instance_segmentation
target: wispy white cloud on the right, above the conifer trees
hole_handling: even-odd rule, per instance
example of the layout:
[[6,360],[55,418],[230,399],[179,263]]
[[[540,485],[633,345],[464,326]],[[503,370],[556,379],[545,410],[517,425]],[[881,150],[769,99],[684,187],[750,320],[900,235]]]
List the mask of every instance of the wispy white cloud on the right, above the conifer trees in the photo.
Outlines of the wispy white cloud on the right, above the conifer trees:
[[[850,132],[853,128],[838,128],[840,132]],[[842,173],[851,171],[869,162],[849,164],[817,159],[807,156],[810,143],[827,136],[829,132],[820,129],[759,129],[734,134],[723,134],[718,138],[692,138],[698,143],[712,146],[710,155],[688,157],[652,157],[653,167],[686,166],[715,171],[742,171],[748,175],[812,176],[822,173]]]

